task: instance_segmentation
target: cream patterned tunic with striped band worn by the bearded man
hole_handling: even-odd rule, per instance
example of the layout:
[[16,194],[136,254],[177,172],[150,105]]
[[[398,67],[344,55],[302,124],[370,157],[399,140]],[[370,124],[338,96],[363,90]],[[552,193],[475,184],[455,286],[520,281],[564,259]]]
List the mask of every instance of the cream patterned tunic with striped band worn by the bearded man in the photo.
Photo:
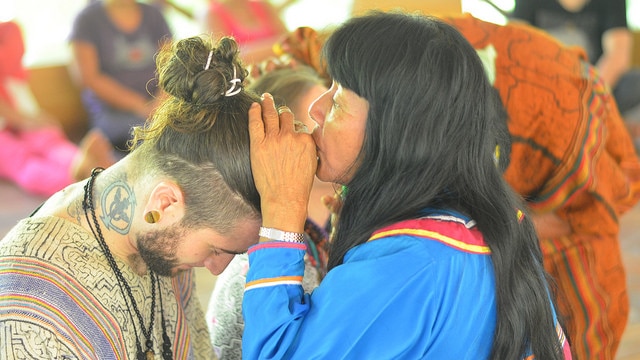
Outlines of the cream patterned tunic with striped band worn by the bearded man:
[[[148,326],[149,277],[116,261]],[[191,298],[192,273],[158,280],[174,358],[213,358],[200,304]],[[162,353],[160,319],[156,305],[156,354]],[[97,241],[83,228],[30,218],[0,240],[0,359],[131,359],[135,331],[144,346],[138,320],[134,326]]]

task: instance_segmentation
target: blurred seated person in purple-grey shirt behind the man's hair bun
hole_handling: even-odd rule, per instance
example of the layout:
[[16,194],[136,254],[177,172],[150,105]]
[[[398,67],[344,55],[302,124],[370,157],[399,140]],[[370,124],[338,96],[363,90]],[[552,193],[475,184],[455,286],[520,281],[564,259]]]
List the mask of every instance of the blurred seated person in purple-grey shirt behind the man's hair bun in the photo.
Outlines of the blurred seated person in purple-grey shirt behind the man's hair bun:
[[131,127],[144,123],[158,98],[154,55],[171,30],[162,13],[135,0],[93,1],[75,18],[70,42],[92,127],[119,156]]

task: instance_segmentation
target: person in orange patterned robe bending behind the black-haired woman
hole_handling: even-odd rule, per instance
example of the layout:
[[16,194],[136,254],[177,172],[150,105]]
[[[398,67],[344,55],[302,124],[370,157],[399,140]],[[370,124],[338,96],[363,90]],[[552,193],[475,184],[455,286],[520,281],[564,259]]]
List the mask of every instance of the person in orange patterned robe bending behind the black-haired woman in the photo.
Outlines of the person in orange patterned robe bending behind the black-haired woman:
[[[640,199],[640,160],[610,89],[581,50],[531,26],[443,19],[478,50],[509,114],[505,177],[533,210],[574,358],[614,359],[629,315],[618,220]],[[307,27],[275,48],[326,74],[322,43]]]

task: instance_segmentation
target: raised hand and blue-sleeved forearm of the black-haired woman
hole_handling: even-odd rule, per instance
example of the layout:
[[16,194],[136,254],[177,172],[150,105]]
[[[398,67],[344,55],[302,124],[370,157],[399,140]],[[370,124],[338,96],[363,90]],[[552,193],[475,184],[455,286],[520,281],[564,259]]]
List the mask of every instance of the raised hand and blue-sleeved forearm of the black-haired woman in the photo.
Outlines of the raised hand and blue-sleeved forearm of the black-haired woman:
[[[303,233],[317,155],[311,135],[296,133],[293,121],[290,111],[276,110],[269,94],[263,96],[262,104],[251,106],[251,170],[260,193],[262,226]],[[264,237],[249,249],[251,275],[247,275],[243,299],[244,357],[282,358],[294,342],[302,314],[309,306],[308,301],[302,300],[305,250],[304,243]],[[273,290],[277,297],[263,297]],[[265,303],[267,299],[269,304]],[[291,311],[295,313],[294,321]],[[254,321],[262,322],[265,317],[269,318],[270,327],[280,329],[277,336],[264,337],[262,331],[251,331]]]

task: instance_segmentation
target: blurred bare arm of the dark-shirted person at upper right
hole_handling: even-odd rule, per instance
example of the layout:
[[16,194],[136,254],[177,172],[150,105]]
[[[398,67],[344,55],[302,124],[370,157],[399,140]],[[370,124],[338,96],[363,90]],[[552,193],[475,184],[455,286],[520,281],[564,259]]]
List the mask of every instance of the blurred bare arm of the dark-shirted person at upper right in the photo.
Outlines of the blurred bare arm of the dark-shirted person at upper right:
[[627,28],[614,28],[602,35],[602,56],[596,67],[600,76],[611,87],[631,67],[633,37]]

